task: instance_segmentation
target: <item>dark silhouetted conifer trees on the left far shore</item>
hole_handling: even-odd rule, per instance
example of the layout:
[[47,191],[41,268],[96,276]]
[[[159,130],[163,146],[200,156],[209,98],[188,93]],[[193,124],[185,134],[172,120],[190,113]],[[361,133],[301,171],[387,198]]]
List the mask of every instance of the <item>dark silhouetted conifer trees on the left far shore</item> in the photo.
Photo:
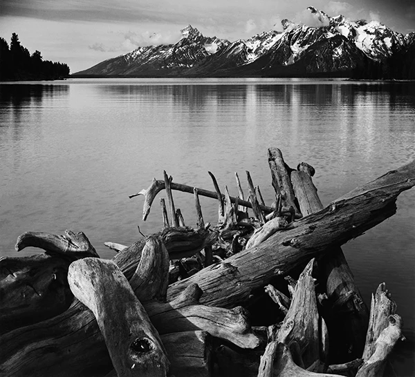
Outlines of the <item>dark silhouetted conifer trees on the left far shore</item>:
[[38,50],[30,55],[15,32],[10,48],[6,39],[0,37],[0,81],[63,79],[69,71],[67,64],[44,60]]

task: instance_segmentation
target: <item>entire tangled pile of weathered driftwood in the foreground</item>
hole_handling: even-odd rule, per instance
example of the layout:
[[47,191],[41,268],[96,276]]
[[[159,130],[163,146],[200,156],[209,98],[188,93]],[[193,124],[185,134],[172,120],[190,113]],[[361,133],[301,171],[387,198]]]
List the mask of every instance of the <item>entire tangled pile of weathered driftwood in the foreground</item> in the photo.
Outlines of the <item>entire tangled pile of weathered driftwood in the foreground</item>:
[[[165,228],[101,260],[84,233],[28,232],[0,259],[1,376],[381,376],[403,339],[396,304],[379,285],[370,310],[340,249],[396,212],[415,161],[324,207],[314,169],[268,150],[276,200],[247,172],[248,200],[154,180]],[[172,190],[194,195],[195,229]],[[205,224],[199,196],[219,202]],[[250,217],[248,209],[252,209]]]

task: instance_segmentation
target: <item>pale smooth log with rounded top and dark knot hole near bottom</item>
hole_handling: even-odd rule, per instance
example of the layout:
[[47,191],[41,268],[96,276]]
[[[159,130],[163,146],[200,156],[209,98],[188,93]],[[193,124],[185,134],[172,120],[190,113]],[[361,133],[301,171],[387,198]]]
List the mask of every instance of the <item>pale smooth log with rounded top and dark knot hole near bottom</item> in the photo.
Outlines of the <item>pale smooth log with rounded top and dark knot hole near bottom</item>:
[[98,258],[73,262],[68,282],[93,312],[118,376],[167,376],[163,343],[114,262]]

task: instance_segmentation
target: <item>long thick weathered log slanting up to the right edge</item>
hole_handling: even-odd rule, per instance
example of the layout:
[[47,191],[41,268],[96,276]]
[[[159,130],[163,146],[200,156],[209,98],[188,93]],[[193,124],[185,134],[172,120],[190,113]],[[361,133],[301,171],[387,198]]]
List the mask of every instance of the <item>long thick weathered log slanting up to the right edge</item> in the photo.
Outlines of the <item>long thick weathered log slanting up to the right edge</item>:
[[329,253],[333,244],[344,244],[394,215],[396,197],[414,185],[415,161],[353,191],[356,195],[336,200],[322,211],[294,222],[258,247],[172,284],[167,297],[176,297],[196,282],[203,290],[201,302],[234,307],[248,300],[252,289],[269,284],[276,271],[288,274],[311,258]]

